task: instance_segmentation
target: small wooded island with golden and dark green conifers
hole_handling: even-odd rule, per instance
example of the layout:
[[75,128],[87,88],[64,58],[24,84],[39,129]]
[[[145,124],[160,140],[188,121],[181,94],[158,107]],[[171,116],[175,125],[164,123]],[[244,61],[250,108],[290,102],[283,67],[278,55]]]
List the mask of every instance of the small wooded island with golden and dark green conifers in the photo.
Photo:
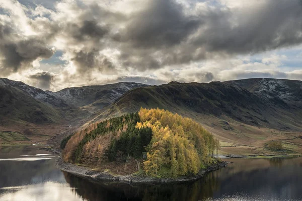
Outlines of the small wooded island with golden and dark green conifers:
[[68,136],[56,164],[94,180],[187,181],[226,166],[217,159],[218,147],[218,140],[192,119],[141,108]]

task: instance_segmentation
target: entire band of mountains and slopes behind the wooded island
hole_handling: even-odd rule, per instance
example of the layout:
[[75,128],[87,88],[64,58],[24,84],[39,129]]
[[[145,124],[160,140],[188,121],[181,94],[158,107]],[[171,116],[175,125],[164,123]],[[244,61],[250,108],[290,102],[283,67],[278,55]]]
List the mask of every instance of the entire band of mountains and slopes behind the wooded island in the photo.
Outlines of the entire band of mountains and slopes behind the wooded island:
[[[257,78],[159,86],[121,82],[51,92],[1,79],[0,87],[0,130],[25,136],[20,140],[3,134],[2,144],[59,145],[69,134],[142,107],[169,110],[200,123],[220,141],[221,155],[302,152],[301,81]],[[276,140],[283,150],[266,147]]]

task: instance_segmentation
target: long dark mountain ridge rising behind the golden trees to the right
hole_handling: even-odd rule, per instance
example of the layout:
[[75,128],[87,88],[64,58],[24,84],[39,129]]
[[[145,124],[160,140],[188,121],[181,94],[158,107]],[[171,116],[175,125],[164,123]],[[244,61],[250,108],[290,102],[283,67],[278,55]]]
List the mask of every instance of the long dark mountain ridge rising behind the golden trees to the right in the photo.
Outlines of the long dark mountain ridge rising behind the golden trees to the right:
[[[296,116],[302,112],[302,81],[170,82],[128,91],[106,112],[112,116],[138,111],[140,107],[159,107],[180,114],[227,116],[249,125],[300,131],[302,122]],[[284,114],[291,122],[280,122]]]

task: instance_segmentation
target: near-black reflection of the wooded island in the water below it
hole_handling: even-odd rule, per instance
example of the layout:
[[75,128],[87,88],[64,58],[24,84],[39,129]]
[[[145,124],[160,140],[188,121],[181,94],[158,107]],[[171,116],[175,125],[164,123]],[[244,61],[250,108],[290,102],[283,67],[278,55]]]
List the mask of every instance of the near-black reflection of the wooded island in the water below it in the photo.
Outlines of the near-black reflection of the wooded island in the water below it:
[[94,183],[64,172],[66,181],[75,191],[90,201],[94,200],[204,200],[219,188],[215,172],[204,179],[182,184],[144,185],[114,182]]

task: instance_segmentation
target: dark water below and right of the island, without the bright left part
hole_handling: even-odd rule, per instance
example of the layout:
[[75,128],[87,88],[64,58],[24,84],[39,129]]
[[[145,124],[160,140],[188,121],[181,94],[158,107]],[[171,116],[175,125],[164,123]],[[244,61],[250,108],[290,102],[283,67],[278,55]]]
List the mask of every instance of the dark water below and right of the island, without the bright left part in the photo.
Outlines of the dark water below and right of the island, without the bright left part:
[[301,158],[232,159],[234,164],[189,183],[94,183],[64,172],[88,200],[302,200]]

